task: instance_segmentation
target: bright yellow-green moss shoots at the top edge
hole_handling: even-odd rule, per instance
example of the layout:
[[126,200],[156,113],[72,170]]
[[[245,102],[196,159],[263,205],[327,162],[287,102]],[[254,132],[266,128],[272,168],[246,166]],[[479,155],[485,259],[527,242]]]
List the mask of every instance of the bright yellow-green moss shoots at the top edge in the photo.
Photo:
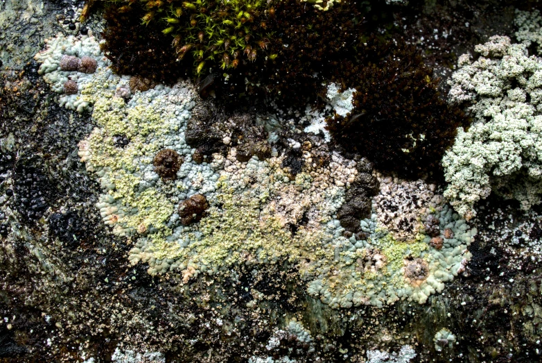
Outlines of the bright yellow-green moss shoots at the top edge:
[[[121,2],[127,3],[126,7],[136,6],[134,0]],[[267,54],[272,33],[266,29],[266,19],[273,12],[267,1],[139,0],[138,3],[146,11],[141,22],[145,25],[161,22],[162,32],[172,37],[177,60],[190,53],[198,75],[214,66],[236,68],[242,59],[254,62],[261,54],[276,57]]]

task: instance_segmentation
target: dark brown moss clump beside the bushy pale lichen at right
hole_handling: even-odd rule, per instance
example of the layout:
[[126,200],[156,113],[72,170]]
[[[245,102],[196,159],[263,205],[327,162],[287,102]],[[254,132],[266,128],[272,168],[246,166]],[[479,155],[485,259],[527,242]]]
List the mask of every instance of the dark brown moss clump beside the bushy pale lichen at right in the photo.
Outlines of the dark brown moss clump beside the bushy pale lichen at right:
[[453,144],[462,111],[440,98],[432,69],[403,41],[369,40],[337,69],[343,90],[354,88],[353,110],[328,119],[328,129],[348,151],[401,176],[440,176],[442,155]]

